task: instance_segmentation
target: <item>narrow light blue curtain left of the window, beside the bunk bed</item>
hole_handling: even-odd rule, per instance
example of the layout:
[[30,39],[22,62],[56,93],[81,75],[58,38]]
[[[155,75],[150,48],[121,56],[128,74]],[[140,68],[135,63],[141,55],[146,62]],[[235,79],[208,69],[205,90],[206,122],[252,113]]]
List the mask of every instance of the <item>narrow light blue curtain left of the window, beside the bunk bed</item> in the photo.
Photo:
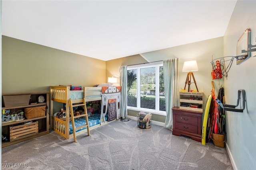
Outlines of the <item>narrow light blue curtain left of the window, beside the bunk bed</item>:
[[121,104],[120,104],[120,116],[121,118],[127,118],[127,66],[119,67],[120,74],[120,84],[122,86],[121,90]]

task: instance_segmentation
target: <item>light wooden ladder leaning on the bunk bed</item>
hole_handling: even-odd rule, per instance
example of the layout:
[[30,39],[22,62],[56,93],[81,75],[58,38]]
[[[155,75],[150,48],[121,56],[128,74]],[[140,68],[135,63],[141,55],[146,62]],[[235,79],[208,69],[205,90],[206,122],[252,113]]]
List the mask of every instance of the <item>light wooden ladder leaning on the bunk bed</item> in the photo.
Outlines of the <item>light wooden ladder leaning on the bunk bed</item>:
[[[73,104],[72,100],[70,100],[69,105],[70,105],[71,121],[72,121],[72,127],[73,127],[74,142],[76,142],[76,130],[78,130],[78,129],[86,127],[88,136],[90,136],[90,129],[89,129],[89,124],[88,124],[88,115],[87,115],[87,109],[86,109],[86,102],[85,102],[84,98],[83,98],[83,102],[82,103],[74,103]],[[84,114],[74,116],[73,107],[76,107],[76,106],[84,106]],[[79,126],[79,127],[75,127],[74,119],[76,119],[78,117],[85,117],[86,124],[82,125],[82,126]]]

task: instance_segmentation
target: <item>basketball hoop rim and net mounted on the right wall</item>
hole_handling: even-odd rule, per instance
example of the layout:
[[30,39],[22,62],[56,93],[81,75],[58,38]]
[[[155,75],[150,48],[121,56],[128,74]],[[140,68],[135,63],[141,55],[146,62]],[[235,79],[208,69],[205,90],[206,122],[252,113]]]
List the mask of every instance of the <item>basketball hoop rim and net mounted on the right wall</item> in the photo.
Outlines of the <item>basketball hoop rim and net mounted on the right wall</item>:
[[222,75],[224,77],[228,77],[228,71],[232,66],[233,60],[237,59],[234,56],[220,57],[218,59],[214,59],[210,61],[212,64],[212,69],[216,75]]

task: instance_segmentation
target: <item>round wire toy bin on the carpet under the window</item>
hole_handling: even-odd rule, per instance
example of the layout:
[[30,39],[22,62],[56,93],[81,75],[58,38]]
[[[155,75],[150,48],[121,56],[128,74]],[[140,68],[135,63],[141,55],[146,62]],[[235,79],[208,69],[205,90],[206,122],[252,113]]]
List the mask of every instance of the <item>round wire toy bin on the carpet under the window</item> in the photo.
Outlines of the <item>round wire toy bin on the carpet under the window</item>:
[[141,129],[149,129],[151,127],[151,113],[140,112],[137,114],[137,124]]

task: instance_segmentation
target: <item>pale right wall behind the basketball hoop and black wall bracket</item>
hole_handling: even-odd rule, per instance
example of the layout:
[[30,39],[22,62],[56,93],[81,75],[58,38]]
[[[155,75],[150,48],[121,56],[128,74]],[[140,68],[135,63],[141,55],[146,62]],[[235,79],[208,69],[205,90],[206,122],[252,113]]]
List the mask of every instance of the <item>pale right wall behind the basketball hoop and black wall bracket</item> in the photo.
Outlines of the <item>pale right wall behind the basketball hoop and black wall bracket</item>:
[[[251,30],[251,44],[256,45],[256,1],[238,0],[224,35],[224,56],[236,56],[238,39],[246,28]],[[256,55],[256,52],[252,56]],[[239,89],[246,92],[243,113],[226,111],[226,148],[234,169],[256,169],[256,57],[243,63],[233,62],[224,81],[226,104],[236,105]],[[237,108],[242,107],[239,105]]]

